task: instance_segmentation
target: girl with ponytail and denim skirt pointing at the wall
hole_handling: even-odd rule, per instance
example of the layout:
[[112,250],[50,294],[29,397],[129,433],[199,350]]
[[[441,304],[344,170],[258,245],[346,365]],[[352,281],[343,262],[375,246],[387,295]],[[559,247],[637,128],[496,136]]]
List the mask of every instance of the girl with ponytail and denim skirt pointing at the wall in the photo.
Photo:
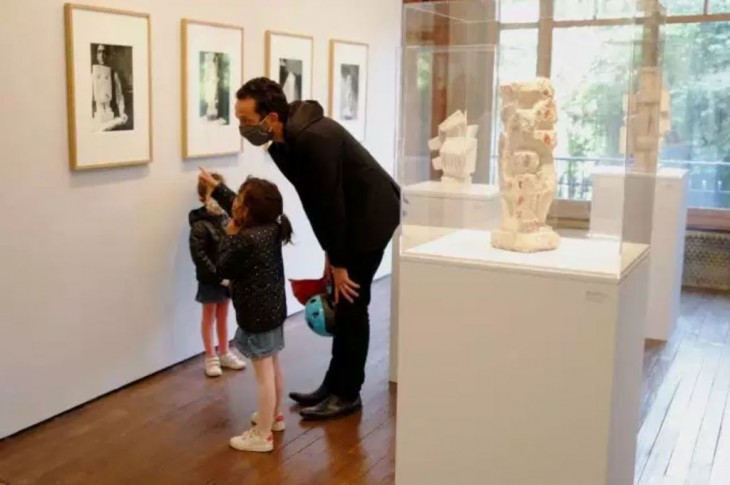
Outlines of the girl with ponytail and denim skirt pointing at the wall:
[[238,330],[233,341],[250,358],[258,383],[254,427],[231,438],[241,451],[274,449],[272,431],[284,430],[280,412],[284,380],[278,354],[284,349],[286,294],[282,244],[291,242],[292,227],[284,215],[281,193],[268,180],[249,177],[238,194],[206,172],[211,196],[231,214],[218,258],[218,272],[231,281]]

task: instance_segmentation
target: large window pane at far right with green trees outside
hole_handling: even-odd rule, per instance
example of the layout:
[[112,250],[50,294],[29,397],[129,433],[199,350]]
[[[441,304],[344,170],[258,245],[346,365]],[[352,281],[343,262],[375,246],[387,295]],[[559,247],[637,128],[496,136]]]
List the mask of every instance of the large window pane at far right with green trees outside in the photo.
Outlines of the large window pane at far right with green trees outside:
[[666,26],[662,166],[690,171],[689,205],[730,209],[730,22]]

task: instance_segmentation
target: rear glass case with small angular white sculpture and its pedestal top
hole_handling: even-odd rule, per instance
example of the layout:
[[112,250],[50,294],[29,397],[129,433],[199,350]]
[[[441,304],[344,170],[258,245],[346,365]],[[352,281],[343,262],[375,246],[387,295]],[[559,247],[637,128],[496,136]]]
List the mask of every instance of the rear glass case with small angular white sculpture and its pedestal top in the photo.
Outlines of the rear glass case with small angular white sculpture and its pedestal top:
[[[489,182],[495,53],[488,45],[403,51],[404,63],[416,66],[402,76],[414,88],[403,93],[401,117],[404,237],[498,224],[499,190]],[[434,83],[435,71],[444,77]]]

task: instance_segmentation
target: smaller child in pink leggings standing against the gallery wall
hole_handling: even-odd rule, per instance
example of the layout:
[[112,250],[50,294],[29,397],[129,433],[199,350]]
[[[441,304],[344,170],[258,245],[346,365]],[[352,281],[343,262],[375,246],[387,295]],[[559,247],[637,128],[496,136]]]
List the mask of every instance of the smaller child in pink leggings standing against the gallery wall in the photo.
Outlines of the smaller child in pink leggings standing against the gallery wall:
[[[216,180],[223,181],[219,174],[212,174]],[[190,211],[190,254],[195,264],[198,279],[196,301],[203,305],[201,334],[205,348],[205,374],[218,377],[221,367],[241,370],[246,363],[228,349],[228,307],[230,291],[228,282],[219,274],[216,267],[218,252],[223,238],[226,236],[225,225],[228,222],[226,213],[210,197],[210,188],[198,182],[198,197],[203,207]],[[213,343],[213,323],[218,334],[218,350]]]

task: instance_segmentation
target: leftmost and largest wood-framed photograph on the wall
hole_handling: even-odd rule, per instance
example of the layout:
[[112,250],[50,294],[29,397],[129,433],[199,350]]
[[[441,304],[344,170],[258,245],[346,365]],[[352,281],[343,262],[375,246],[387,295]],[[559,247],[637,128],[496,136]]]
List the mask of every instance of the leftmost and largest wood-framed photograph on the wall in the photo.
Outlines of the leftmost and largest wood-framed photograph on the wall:
[[65,5],[72,170],[152,161],[150,17]]

